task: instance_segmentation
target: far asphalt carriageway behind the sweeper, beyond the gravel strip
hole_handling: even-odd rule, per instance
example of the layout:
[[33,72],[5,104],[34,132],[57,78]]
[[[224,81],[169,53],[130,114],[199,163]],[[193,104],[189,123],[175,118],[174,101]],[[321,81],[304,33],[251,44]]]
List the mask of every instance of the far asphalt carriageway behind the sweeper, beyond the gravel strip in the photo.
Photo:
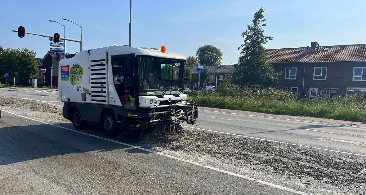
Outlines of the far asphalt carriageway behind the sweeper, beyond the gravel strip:
[[[57,100],[58,91],[54,90],[0,88],[1,95],[63,105]],[[202,110],[192,127],[366,155],[366,129],[363,128]]]

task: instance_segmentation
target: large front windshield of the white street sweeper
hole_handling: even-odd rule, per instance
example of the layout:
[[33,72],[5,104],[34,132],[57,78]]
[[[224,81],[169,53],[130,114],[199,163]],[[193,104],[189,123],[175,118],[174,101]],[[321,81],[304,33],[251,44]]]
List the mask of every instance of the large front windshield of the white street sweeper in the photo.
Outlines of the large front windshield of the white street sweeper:
[[163,96],[183,93],[185,60],[138,57],[139,95]]

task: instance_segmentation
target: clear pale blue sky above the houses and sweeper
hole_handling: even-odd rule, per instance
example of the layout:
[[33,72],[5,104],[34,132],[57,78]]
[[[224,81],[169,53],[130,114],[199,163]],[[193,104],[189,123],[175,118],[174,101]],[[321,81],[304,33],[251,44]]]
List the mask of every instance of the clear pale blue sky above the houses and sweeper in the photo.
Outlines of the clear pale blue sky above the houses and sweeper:
[[[58,2],[58,3],[56,3]],[[26,34],[19,38],[12,30],[81,39],[84,49],[128,45],[129,0],[1,0],[0,45],[28,48],[43,58],[49,39]],[[160,48],[195,56],[198,47],[213,45],[223,51],[222,64],[237,62],[242,32],[254,13],[264,7],[267,26],[273,36],[267,49],[366,43],[365,0],[132,0],[132,47]],[[76,53],[80,43],[66,42],[66,52]]]

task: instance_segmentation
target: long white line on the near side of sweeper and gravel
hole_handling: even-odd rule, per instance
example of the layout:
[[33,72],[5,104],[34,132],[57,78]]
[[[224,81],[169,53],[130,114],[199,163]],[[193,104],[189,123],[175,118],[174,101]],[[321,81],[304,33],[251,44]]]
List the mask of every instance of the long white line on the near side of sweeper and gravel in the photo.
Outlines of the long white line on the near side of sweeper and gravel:
[[80,133],[80,134],[84,134],[84,135],[89,135],[91,137],[103,139],[105,141],[114,142],[116,144],[125,145],[125,146],[131,147],[131,148],[143,150],[143,151],[150,152],[150,153],[154,153],[154,154],[159,154],[159,155],[162,155],[162,156],[165,156],[165,157],[168,157],[168,158],[173,158],[173,159],[176,159],[176,160],[179,160],[179,161],[183,161],[183,162],[186,162],[186,163],[190,163],[190,164],[194,164],[194,165],[197,165],[197,166],[200,166],[200,167],[205,167],[205,168],[212,169],[212,170],[215,170],[215,171],[219,171],[219,172],[222,172],[222,173],[227,173],[229,175],[236,176],[236,177],[240,177],[240,178],[247,179],[247,180],[250,180],[250,181],[256,181],[258,183],[265,184],[267,186],[272,186],[272,187],[275,187],[275,188],[280,188],[281,190],[290,191],[290,192],[293,192],[293,193],[296,193],[296,194],[301,194],[301,195],[311,195],[311,194],[307,194],[305,192],[293,190],[291,188],[279,186],[279,185],[272,184],[272,183],[269,183],[269,182],[266,182],[266,181],[257,180],[257,179],[251,178],[251,177],[247,177],[247,176],[244,176],[244,175],[237,174],[237,173],[225,171],[225,170],[222,170],[222,169],[210,167],[210,166],[203,165],[203,164],[198,164],[198,163],[196,163],[194,161],[190,161],[190,160],[186,160],[186,159],[183,159],[183,158],[171,156],[169,154],[164,154],[164,153],[161,153],[161,152],[157,152],[157,151],[150,150],[150,149],[146,149],[146,148],[141,148],[141,147],[138,147],[138,146],[134,146],[134,145],[131,145],[131,144],[126,144],[126,143],[119,142],[119,141],[115,141],[115,140],[112,140],[112,139],[107,139],[107,138],[104,138],[104,137],[99,137],[97,135],[92,135],[92,134],[89,134],[89,133],[84,133],[84,132],[77,131],[77,130],[74,130],[74,129],[69,129],[67,127],[57,126],[57,125],[54,125],[54,124],[51,124],[51,123],[39,121],[39,120],[36,120],[36,119],[33,119],[33,118],[29,118],[29,117],[26,117],[26,116],[22,116],[22,115],[19,115],[19,114],[12,113],[12,112],[9,112],[9,111],[5,111],[5,110],[1,110],[1,111],[7,112],[7,113],[12,114],[12,115],[15,115],[15,116],[20,116],[20,117],[23,117],[23,118],[26,118],[26,119],[29,119],[29,120],[32,120],[32,121],[37,121],[39,123],[43,123],[43,124],[46,124],[46,125],[51,125],[51,126],[54,126],[54,127],[59,127],[61,129],[66,129],[66,130],[74,131],[76,133]]

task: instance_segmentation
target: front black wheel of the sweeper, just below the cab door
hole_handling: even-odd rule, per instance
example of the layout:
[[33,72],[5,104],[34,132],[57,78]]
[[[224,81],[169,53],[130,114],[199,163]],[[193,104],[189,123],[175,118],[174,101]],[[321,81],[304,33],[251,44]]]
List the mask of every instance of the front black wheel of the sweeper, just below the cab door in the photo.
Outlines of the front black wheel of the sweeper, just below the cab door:
[[121,134],[119,123],[116,122],[116,115],[112,111],[105,111],[102,115],[101,125],[102,129],[108,137],[117,137]]

